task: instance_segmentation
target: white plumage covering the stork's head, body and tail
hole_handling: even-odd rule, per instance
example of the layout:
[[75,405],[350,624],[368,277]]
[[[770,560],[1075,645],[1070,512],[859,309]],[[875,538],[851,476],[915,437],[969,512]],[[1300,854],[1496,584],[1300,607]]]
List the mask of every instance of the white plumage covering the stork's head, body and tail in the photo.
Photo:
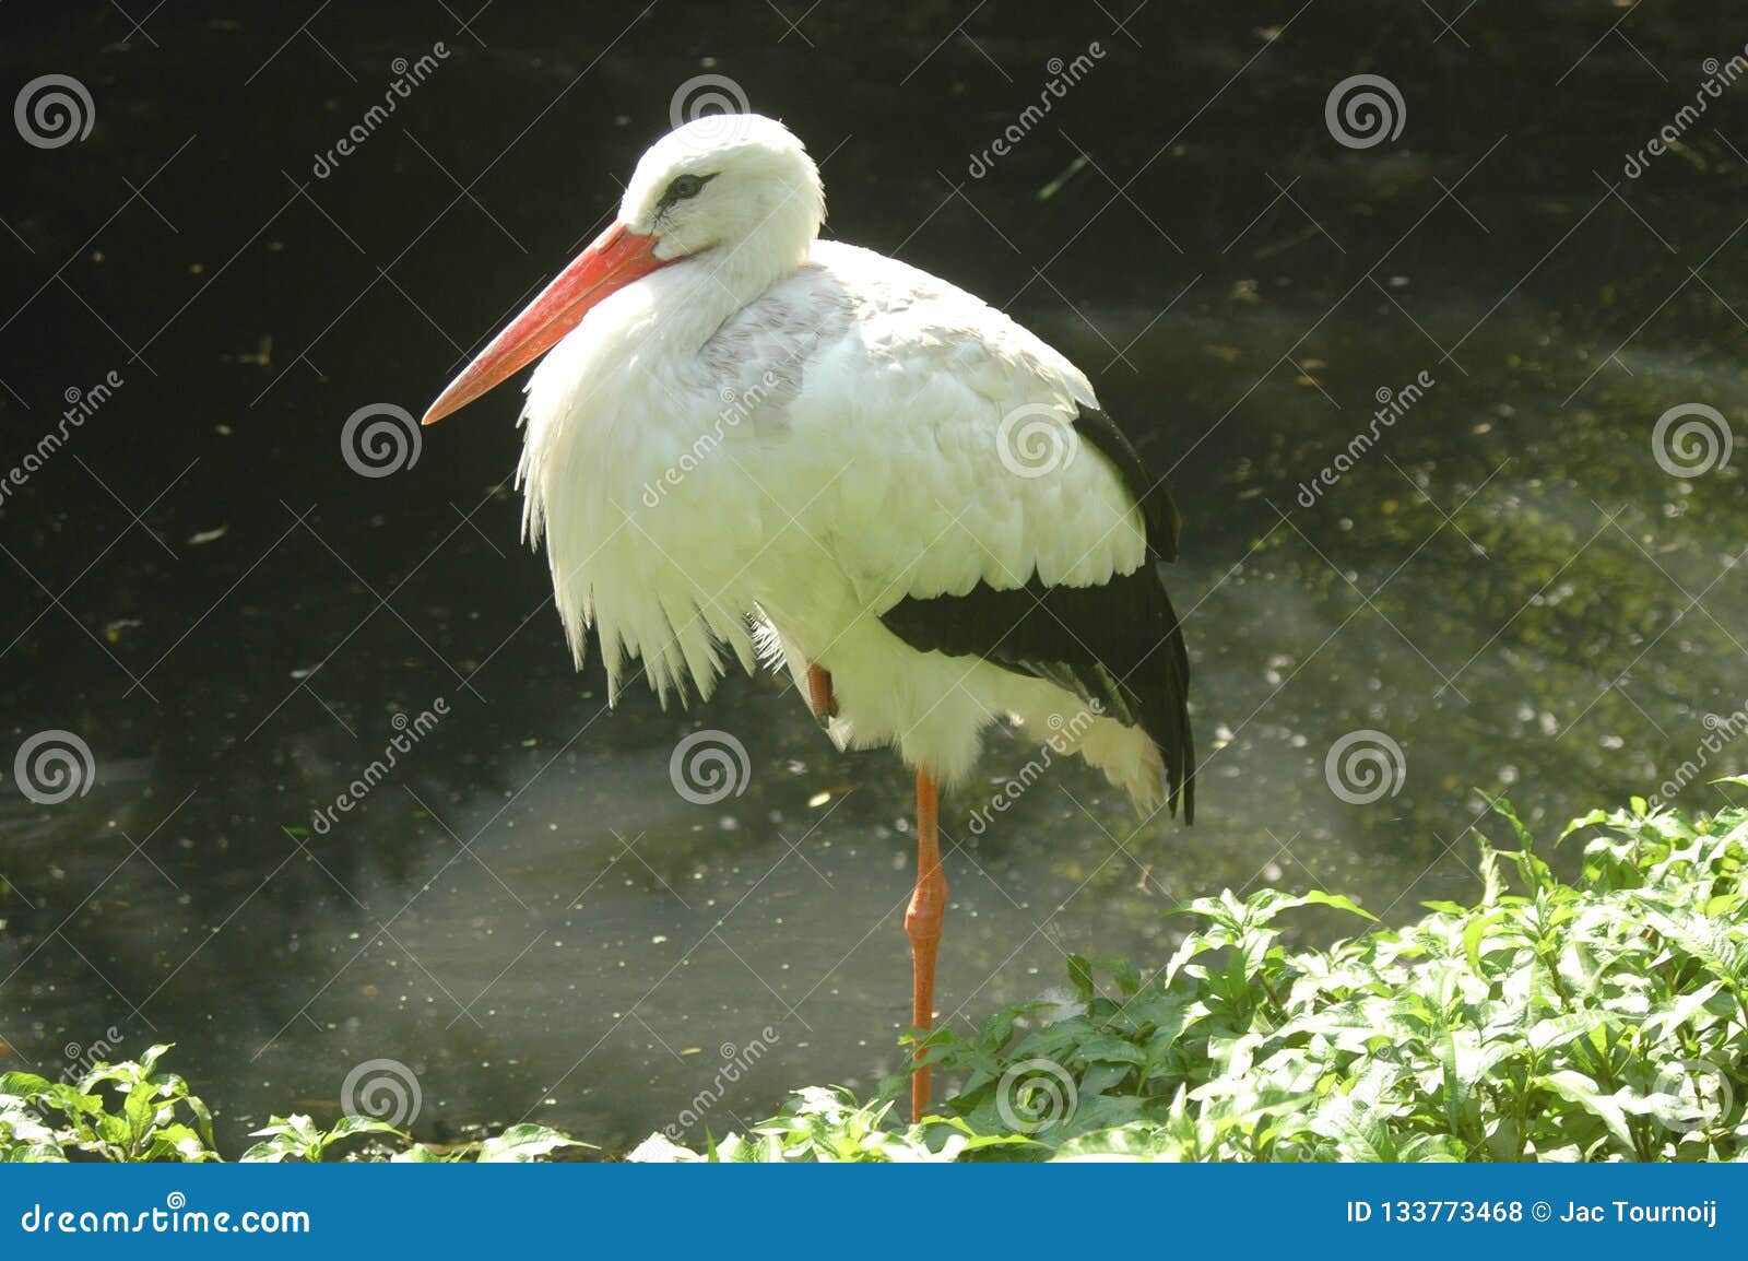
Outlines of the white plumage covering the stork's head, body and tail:
[[[528,387],[526,533],[577,661],[593,626],[614,696],[642,661],[666,701],[708,698],[729,658],[752,668],[764,647],[797,682],[809,661],[832,673],[841,747],[897,745],[951,784],[1012,714],[1157,803],[1140,729],[879,623],[905,596],[1033,574],[1091,586],[1147,563],[1134,497],[1073,437],[1077,408],[1098,406],[1086,376],[977,297],[818,241],[818,173],[781,124],[722,131],[659,142],[621,208],[687,257],[601,301]],[[704,194],[662,208],[687,171],[713,177]],[[1016,474],[998,441],[1017,408],[1059,427],[1072,458]]]

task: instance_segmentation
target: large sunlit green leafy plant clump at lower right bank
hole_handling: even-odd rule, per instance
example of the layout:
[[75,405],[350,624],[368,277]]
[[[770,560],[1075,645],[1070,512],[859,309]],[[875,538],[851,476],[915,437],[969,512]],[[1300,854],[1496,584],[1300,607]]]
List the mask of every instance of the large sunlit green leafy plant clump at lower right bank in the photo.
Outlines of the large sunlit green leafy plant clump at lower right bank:
[[[1175,908],[1194,923],[1152,976],[1070,958],[1072,1002],[935,1030],[925,1062],[963,1076],[944,1104],[967,1126],[953,1133],[1030,1139],[953,1156],[1748,1158],[1748,812],[1594,812],[1564,833],[1589,834],[1568,885],[1510,806],[1495,810],[1519,848],[1481,841],[1475,906],[1432,902],[1404,929],[1288,951],[1281,916],[1295,908],[1365,911],[1225,892]],[[884,1114],[804,1093],[715,1149],[837,1158],[825,1154],[867,1142],[871,1116]],[[944,1132],[902,1137],[946,1153]]]

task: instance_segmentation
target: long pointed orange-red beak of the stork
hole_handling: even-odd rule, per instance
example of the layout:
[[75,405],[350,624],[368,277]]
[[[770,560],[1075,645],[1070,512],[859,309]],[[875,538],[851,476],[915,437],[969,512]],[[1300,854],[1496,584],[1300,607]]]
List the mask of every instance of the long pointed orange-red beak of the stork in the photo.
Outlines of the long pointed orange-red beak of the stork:
[[582,324],[591,306],[668,262],[675,259],[656,257],[654,236],[640,236],[624,224],[614,224],[449,381],[420,423],[435,425],[514,376]]

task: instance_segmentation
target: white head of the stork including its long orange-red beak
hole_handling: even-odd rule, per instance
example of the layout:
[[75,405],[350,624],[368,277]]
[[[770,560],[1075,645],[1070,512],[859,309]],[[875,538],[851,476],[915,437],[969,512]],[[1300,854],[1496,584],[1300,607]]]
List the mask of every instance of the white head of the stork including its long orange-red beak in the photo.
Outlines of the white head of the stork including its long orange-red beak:
[[619,219],[461,369],[423,423],[540,359],[631,282],[699,259],[769,283],[808,257],[823,220],[820,173],[781,122],[710,114],[669,131],[638,161]]

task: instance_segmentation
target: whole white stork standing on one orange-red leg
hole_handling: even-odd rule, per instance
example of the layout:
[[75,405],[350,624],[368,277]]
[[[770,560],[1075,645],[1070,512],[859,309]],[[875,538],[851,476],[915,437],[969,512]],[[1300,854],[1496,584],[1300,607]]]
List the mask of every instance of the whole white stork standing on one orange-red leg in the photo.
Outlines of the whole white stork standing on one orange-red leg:
[[[904,927],[926,1030],[939,791],[989,722],[1051,731],[1140,810],[1192,819],[1189,658],[1157,567],[1178,516],[1063,355],[944,280],[818,240],[823,220],[783,124],[678,128],[425,423],[545,355],[517,483],[577,665],[593,626],[610,696],[642,659],[664,701],[708,700],[729,656],[762,652],[839,749],[916,768]],[[912,1118],[926,1105],[919,1067]]]

